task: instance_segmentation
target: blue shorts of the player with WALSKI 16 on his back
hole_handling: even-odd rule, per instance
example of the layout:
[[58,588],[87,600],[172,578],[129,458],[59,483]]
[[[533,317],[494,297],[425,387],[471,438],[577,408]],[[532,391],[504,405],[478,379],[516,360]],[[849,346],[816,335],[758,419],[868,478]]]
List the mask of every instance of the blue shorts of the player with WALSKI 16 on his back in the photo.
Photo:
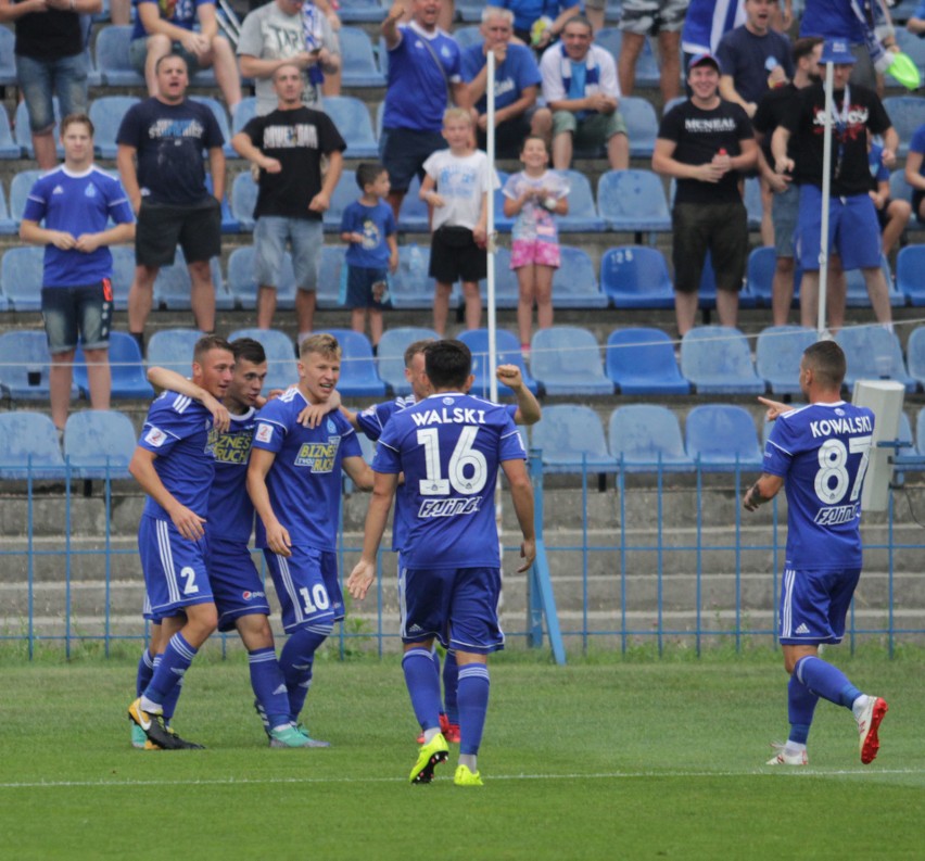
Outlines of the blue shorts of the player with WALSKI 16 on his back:
[[504,648],[497,568],[403,568],[402,642],[436,637],[444,648],[487,655]]

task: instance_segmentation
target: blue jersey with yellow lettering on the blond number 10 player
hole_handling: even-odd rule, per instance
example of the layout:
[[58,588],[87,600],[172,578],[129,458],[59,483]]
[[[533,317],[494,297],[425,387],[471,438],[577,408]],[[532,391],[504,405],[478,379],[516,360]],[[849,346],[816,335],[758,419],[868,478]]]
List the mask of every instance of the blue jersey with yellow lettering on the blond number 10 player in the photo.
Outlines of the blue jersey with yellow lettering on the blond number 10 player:
[[[335,550],[341,507],[341,465],[363,457],[350,422],[329,414],[317,428],[304,428],[299,414],[308,405],[299,387],[287,389],[257,414],[254,448],[276,453],[266,482],[274,514],[294,545]],[[266,530],[257,518],[257,546]]]

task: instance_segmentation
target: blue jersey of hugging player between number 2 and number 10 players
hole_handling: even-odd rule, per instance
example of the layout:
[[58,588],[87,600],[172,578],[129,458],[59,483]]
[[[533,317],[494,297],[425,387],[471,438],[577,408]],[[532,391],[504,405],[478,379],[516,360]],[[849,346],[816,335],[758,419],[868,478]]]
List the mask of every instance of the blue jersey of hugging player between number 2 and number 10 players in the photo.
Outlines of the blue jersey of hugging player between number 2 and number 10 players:
[[231,416],[225,433],[215,434],[215,479],[208,494],[210,535],[246,544],[254,528],[254,505],[248,495],[248,465],[257,410]]

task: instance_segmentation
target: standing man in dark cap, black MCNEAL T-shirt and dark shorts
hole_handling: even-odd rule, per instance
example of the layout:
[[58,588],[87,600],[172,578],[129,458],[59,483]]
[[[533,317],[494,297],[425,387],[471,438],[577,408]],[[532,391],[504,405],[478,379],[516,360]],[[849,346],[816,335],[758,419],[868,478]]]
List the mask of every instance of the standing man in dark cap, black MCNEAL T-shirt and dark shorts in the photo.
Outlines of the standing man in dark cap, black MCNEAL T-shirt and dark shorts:
[[677,332],[694,328],[697,290],[707,252],[717,277],[717,312],[735,326],[748,254],[748,216],[739,176],[758,162],[751,123],[737,104],[719,94],[720,63],[696,54],[687,72],[690,99],[661,121],[652,169],[677,182],[671,219],[674,235],[674,311]]

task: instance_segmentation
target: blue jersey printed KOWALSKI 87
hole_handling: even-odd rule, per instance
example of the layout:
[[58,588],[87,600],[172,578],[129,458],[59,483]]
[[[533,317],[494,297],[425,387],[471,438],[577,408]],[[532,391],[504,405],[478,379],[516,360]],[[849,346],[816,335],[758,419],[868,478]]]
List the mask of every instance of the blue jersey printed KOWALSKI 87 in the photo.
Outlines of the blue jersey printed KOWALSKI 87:
[[764,471],[787,493],[787,565],[861,567],[861,488],[874,414],[839,401],[781,416],[764,447]]

